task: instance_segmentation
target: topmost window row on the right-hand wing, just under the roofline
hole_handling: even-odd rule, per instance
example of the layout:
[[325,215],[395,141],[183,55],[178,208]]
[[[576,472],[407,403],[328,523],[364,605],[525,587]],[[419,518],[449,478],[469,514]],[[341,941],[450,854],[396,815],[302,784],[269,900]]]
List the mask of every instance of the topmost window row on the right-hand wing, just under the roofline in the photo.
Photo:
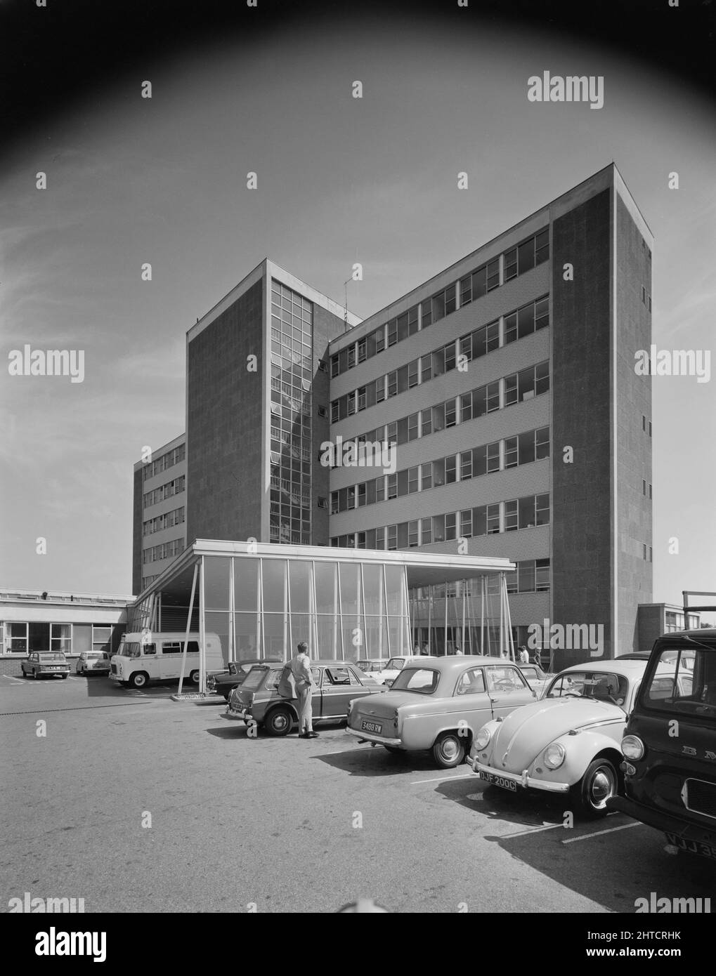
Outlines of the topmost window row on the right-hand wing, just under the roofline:
[[340,376],[358,363],[382,352],[388,346],[414,336],[416,332],[427,329],[428,326],[439,322],[445,315],[449,315],[458,307],[469,305],[487,292],[493,291],[501,284],[505,284],[518,274],[524,274],[536,264],[542,264],[549,258],[549,229],[545,227],[539,233],[528,237],[522,244],[505,251],[486,264],[481,264],[475,271],[465,275],[459,281],[453,281],[436,295],[425,299],[418,305],[413,305],[401,315],[374,329],[368,335],[351,346],[346,346],[340,352],[331,356],[331,377]]

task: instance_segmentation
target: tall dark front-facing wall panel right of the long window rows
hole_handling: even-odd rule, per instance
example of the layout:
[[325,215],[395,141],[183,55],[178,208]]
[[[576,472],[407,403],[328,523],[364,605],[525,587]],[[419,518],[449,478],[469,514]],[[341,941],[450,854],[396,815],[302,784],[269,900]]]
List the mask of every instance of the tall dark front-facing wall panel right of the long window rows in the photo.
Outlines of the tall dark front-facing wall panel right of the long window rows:
[[[604,190],[558,218],[552,237],[552,623],[604,624],[605,657],[613,656],[610,197]],[[573,281],[563,279],[568,263]],[[556,667],[585,657],[557,651]]]

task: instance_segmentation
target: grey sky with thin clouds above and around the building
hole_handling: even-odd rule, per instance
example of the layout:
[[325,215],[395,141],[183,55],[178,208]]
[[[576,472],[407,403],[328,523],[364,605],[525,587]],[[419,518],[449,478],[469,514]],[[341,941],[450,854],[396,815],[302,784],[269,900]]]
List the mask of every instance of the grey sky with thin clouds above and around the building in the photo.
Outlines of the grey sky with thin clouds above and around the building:
[[[655,238],[654,344],[710,348],[713,102],[517,24],[380,26],[292,21],[147,58],[5,154],[3,361],[82,349],[85,376],[0,372],[0,585],[130,593],[133,464],[184,430],[186,332],[265,257],[341,304],[359,262],[366,317],[613,160]],[[604,107],[528,102],[545,69],[604,76]],[[653,379],[657,601],[716,590],[715,384]]]

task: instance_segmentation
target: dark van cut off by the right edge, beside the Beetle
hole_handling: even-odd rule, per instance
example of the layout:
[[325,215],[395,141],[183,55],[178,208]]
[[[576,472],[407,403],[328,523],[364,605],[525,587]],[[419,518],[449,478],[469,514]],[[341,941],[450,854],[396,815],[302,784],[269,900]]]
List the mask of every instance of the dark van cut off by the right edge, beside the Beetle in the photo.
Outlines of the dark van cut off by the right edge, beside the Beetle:
[[626,796],[609,809],[716,860],[716,629],[656,640],[621,751]]

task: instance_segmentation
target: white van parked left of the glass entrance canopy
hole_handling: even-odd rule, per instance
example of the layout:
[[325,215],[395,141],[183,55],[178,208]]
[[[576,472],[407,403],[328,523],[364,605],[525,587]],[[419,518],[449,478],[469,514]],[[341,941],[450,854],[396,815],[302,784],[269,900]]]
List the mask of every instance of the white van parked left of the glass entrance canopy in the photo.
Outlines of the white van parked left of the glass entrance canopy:
[[[109,677],[125,688],[144,688],[148,681],[179,680],[182,671],[182,652],[186,632],[151,630],[125,633],[119,650],[112,656]],[[227,667],[222,642],[216,633],[204,634],[206,644],[206,673]],[[190,633],[187,642],[185,680],[199,683],[199,635]]]

